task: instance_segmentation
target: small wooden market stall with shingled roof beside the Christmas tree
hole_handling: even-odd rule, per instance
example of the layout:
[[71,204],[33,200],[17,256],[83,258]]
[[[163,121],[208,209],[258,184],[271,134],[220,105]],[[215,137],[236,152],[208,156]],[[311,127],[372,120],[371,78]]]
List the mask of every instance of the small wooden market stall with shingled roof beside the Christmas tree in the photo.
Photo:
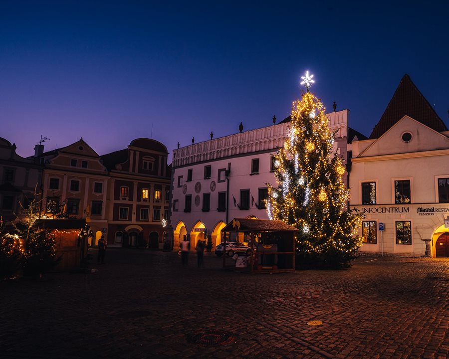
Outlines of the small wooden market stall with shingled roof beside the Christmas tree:
[[298,231],[280,220],[234,218],[222,229],[224,246],[239,241],[250,251],[233,258],[225,254],[223,267],[247,273],[293,272]]

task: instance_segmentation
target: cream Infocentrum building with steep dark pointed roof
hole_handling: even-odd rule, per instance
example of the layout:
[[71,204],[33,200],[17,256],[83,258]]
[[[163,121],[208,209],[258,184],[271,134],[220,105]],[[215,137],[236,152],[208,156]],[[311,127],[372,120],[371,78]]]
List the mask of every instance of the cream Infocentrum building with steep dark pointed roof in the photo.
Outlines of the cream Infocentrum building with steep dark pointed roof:
[[449,131],[408,75],[351,163],[362,252],[449,257]]

